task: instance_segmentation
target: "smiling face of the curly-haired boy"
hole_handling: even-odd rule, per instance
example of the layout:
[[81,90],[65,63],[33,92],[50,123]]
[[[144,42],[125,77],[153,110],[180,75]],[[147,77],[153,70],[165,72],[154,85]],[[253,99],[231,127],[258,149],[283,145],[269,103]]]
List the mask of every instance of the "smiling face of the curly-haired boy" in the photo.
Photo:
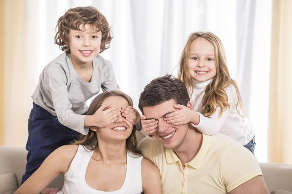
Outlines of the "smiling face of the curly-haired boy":
[[[78,30],[70,30],[70,56],[75,65],[92,65],[93,58],[100,52],[102,33],[91,25],[80,25]],[[65,46],[68,46],[67,44]]]

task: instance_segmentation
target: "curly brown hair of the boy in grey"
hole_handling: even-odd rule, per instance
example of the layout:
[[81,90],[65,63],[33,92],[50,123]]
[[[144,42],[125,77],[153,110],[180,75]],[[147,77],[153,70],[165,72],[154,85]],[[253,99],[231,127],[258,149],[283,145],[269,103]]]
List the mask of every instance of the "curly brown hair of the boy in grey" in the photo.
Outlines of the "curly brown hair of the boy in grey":
[[89,24],[92,29],[101,31],[102,39],[100,52],[110,48],[112,36],[110,34],[110,26],[104,15],[102,15],[95,7],[75,7],[69,9],[63,16],[58,19],[56,26],[55,44],[67,53],[70,53],[69,32],[70,30],[80,30],[80,25]]

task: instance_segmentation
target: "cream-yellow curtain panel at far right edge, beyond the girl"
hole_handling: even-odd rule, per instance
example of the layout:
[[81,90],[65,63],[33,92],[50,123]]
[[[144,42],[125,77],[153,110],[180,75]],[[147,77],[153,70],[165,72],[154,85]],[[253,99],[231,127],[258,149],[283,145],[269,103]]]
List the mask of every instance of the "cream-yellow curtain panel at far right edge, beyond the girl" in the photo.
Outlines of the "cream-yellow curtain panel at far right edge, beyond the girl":
[[269,161],[292,164],[292,1],[273,0]]

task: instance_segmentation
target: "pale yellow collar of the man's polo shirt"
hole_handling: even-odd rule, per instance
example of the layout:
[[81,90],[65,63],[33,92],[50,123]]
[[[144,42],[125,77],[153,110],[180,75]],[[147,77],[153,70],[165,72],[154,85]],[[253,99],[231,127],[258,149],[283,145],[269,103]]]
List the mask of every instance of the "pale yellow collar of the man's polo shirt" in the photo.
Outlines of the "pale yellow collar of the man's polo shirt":
[[[195,158],[193,158],[193,160],[188,162],[188,165],[195,169],[200,168],[201,163],[203,162],[210,147],[211,137],[209,135],[205,135],[204,133],[202,133],[202,137],[203,141],[198,154],[195,156]],[[178,162],[180,160],[173,149],[165,149],[165,157],[168,164]]]

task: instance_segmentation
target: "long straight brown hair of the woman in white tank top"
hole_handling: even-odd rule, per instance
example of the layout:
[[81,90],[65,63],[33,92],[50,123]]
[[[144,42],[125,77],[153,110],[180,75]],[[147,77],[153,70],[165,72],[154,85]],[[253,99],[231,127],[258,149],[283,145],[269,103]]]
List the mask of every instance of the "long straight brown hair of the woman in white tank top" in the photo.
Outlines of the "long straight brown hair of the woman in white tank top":
[[[129,106],[133,106],[132,99],[123,92],[120,91],[110,91],[104,92],[94,98],[89,106],[87,111],[87,115],[93,115],[97,109],[100,108],[101,104],[107,99],[108,97],[113,96],[120,96],[125,98],[128,101]],[[81,135],[79,140],[74,143],[75,145],[82,145],[88,148],[89,150],[95,150],[98,146],[97,135],[96,132],[89,129],[87,135]],[[141,152],[137,149],[137,139],[136,139],[136,127],[133,125],[133,130],[130,136],[126,140],[126,150],[132,154],[141,155]]]

